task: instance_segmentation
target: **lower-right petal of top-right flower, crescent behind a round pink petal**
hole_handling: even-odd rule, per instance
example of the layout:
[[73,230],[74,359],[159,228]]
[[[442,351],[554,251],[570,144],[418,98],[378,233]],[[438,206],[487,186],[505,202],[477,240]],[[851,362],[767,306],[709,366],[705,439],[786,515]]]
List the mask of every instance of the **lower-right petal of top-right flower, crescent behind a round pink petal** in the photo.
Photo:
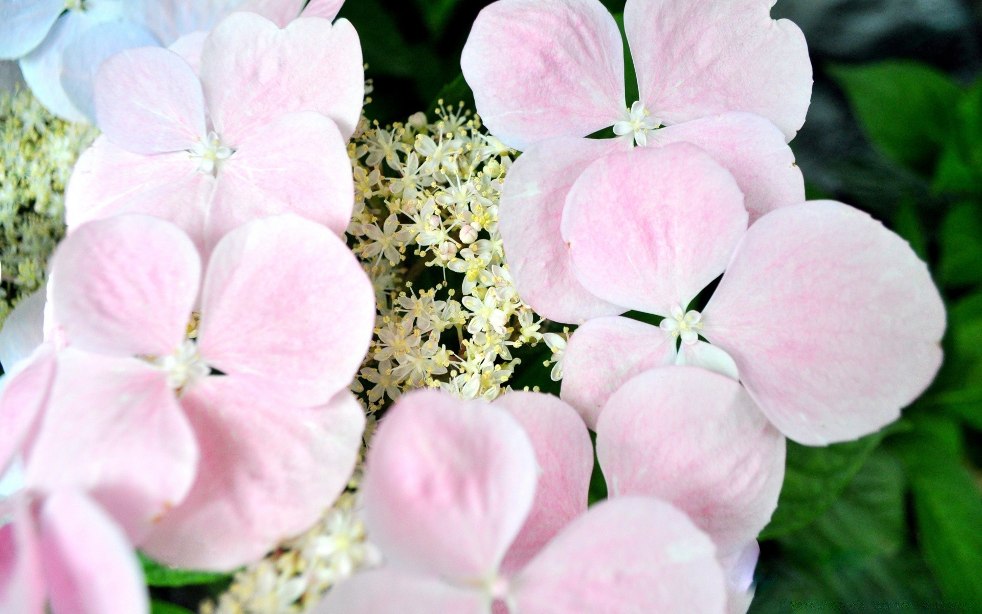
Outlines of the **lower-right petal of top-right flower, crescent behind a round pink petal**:
[[804,202],[804,178],[785,136],[752,113],[724,113],[648,133],[649,145],[699,145],[736,179],[752,224],[786,204]]

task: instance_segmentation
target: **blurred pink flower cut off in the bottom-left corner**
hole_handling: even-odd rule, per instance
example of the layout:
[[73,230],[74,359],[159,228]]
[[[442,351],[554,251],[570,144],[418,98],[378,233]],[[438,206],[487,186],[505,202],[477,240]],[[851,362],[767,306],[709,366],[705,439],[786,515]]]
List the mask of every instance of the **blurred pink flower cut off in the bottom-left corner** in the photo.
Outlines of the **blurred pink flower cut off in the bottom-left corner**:
[[125,533],[81,492],[0,503],[0,525],[0,611],[150,611],[143,572]]

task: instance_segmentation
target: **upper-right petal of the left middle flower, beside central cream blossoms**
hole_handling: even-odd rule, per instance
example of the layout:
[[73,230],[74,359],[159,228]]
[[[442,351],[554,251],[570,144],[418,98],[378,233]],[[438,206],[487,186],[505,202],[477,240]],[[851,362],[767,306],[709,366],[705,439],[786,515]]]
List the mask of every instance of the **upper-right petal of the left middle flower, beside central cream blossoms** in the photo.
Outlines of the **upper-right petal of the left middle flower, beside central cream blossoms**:
[[296,215],[249,222],[208,263],[198,347],[283,403],[327,403],[347,389],[368,350],[375,293],[331,231]]

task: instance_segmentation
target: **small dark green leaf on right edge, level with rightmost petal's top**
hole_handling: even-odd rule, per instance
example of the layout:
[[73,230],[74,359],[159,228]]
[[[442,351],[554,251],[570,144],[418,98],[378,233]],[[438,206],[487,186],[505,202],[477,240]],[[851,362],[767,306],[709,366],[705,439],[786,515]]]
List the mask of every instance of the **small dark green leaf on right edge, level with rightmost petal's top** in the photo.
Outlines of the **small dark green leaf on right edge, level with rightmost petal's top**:
[[982,212],[974,202],[949,211],[941,227],[939,277],[949,286],[982,282]]

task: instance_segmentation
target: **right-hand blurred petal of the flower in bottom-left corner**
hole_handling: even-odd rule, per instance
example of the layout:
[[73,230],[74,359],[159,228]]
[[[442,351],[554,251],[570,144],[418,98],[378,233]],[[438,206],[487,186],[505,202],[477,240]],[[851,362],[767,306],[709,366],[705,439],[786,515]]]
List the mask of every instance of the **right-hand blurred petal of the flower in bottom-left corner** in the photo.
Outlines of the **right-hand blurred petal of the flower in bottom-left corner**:
[[126,535],[80,492],[56,492],[39,519],[51,610],[72,614],[148,614],[143,570]]

